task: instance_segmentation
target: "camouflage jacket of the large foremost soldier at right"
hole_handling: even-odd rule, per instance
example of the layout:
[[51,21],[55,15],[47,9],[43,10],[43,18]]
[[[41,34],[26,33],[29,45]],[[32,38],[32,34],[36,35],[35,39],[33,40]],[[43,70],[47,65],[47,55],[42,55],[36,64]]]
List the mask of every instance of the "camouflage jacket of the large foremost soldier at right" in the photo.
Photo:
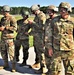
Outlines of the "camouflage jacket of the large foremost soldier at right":
[[67,19],[61,18],[61,16],[55,17],[50,25],[50,34],[48,41],[48,49],[54,50],[74,50],[73,29],[74,19],[68,17]]

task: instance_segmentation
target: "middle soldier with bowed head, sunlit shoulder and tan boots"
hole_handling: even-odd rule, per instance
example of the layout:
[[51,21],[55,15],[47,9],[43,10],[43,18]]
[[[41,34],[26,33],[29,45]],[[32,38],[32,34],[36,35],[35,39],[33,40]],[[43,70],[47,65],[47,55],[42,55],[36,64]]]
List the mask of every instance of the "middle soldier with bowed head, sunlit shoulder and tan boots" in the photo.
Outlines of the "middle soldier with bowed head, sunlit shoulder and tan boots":
[[35,64],[32,68],[40,68],[36,73],[46,72],[46,65],[44,64],[44,24],[46,21],[45,14],[40,11],[40,5],[32,5],[31,11],[35,15],[34,21],[32,22],[32,34],[34,36],[34,48],[36,53]]

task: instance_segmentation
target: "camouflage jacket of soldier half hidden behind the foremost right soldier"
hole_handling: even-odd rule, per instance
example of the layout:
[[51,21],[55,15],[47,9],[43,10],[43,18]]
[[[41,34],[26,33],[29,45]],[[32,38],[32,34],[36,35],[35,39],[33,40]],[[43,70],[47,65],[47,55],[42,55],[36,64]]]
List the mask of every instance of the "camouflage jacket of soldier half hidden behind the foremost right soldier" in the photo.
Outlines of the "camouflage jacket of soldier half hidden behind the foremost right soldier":
[[50,26],[50,23],[51,23],[51,20],[50,18],[48,18],[46,20],[46,23],[45,23],[45,47],[49,49],[49,46],[50,46],[50,41],[52,42],[52,40],[50,40],[50,38],[52,39],[52,34],[51,34],[51,26]]

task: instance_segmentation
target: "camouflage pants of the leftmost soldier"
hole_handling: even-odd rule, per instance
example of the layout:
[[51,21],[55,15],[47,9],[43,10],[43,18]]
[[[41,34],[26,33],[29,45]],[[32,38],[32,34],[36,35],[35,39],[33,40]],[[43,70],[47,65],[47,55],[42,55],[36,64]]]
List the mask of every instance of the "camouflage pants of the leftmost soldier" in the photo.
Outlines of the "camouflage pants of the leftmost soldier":
[[4,62],[8,62],[8,54],[12,63],[15,63],[15,47],[13,39],[2,40],[1,55]]

